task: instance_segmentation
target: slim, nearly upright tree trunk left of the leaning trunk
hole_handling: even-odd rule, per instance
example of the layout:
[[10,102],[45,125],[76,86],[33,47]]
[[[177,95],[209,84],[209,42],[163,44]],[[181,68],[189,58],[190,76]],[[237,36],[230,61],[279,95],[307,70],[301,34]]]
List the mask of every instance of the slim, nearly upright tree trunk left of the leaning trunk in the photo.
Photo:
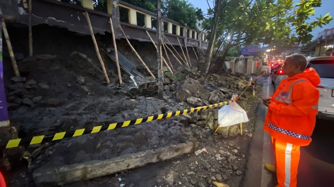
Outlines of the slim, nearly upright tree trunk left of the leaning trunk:
[[221,11],[221,1],[222,0],[216,0],[216,6],[214,7],[214,14],[213,14],[213,23],[211,27],[211,37],[210,41],[208,44],[208,49],[206,51],[205,55],[205,72],[204,75],[207,75],[210,67],[210,61],[212,57],[212,52],[214,48],[214,42],[216,40],[216,35],[217,35],[217,25],[218,25],[218,20],[219,20],[219,14]]

